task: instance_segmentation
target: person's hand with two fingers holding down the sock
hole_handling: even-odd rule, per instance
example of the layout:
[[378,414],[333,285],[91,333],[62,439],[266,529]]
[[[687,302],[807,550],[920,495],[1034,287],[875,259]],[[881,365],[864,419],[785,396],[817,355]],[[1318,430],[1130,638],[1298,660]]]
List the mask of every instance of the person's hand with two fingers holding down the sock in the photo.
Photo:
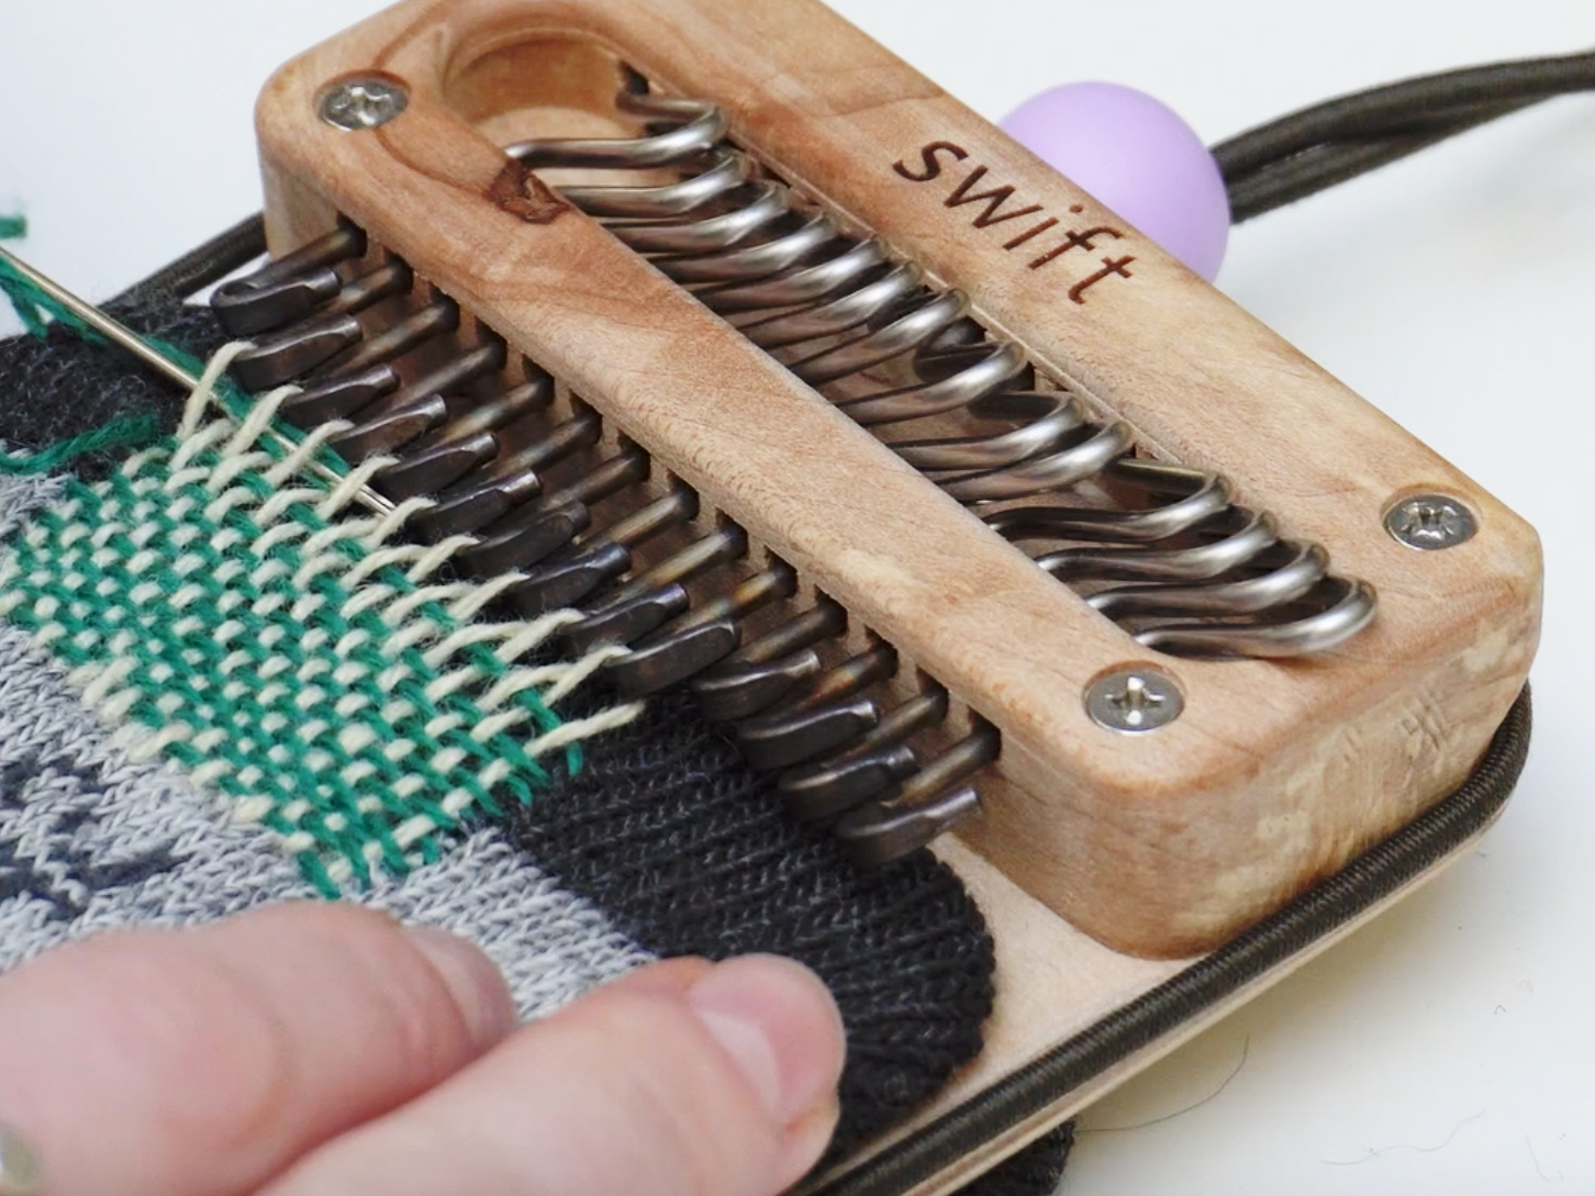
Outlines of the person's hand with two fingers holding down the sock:
[[0,1124],[45,1196],[774,1196],[841,1067],[788,960],[670,960],[517,1027],[475,947],[348,906],[0,978]]

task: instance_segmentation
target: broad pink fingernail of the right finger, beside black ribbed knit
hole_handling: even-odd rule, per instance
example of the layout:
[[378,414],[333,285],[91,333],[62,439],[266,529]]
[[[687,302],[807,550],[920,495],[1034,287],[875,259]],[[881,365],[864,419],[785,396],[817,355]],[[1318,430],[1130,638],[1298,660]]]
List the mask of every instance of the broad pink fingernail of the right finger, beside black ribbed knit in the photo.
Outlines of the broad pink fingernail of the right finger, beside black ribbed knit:
[[834,1099],[842,1019],[825,984],[801,963],[775,955],[729,960],[687,990],[687,1005],[780,1124]]

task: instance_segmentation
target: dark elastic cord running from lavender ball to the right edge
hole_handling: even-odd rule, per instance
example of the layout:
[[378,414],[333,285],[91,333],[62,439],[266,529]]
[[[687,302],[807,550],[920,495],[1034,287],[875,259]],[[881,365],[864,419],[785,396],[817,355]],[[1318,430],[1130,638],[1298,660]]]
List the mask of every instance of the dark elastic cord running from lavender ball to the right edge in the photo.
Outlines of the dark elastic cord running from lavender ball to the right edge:
[[1595,89],[1595,53],[1496,62],[1314,104],[1212,147],[1233,223],[1531,104]]

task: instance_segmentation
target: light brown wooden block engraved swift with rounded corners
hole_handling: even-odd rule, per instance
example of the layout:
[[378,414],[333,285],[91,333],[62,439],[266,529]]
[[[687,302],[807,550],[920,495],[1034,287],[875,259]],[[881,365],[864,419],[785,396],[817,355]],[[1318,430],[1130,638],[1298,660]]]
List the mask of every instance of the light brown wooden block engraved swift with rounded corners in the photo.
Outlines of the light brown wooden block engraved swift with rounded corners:
[[[1177,722],[1094,726],[1085,687],[1145,649],[595,223],[550,209],[483,132],[539,107],[601,116],[614,57],[726,105],[783,177],[968,292],[1148,451],[1225,474],[1324,544],[1376,588],[1373,627],[1313,662],[1161,660],[1187,697]],[[372,70],[410,89],[399,120],[316,120],[325,86]],[[1541,577],[1525,523],[809,0],[413,0],[286,67],[258,123],[276,246],[346,212],[998,726],[968,844],[1116,950],[1191,955],[1278,907],[1453,788],[1522,686]],[[959,153],[927,156],[938,144]],[[975,185],[1059,223],[1005,249],[1042,215],[981,225],[983,204],[949,206],[976,167]],[[1480,534],[1396,544],[1383,512],[1415,490],[1466,501]]]

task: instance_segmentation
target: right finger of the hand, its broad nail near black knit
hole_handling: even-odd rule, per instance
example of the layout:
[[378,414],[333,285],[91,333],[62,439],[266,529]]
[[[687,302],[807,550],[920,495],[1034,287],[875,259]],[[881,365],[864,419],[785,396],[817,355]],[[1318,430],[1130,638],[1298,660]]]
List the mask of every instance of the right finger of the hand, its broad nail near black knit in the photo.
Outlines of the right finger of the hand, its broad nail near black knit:
[[790,960],[644,968],[262,1196],[774,1196],[829,1140],[842,1049],[829,993]]

